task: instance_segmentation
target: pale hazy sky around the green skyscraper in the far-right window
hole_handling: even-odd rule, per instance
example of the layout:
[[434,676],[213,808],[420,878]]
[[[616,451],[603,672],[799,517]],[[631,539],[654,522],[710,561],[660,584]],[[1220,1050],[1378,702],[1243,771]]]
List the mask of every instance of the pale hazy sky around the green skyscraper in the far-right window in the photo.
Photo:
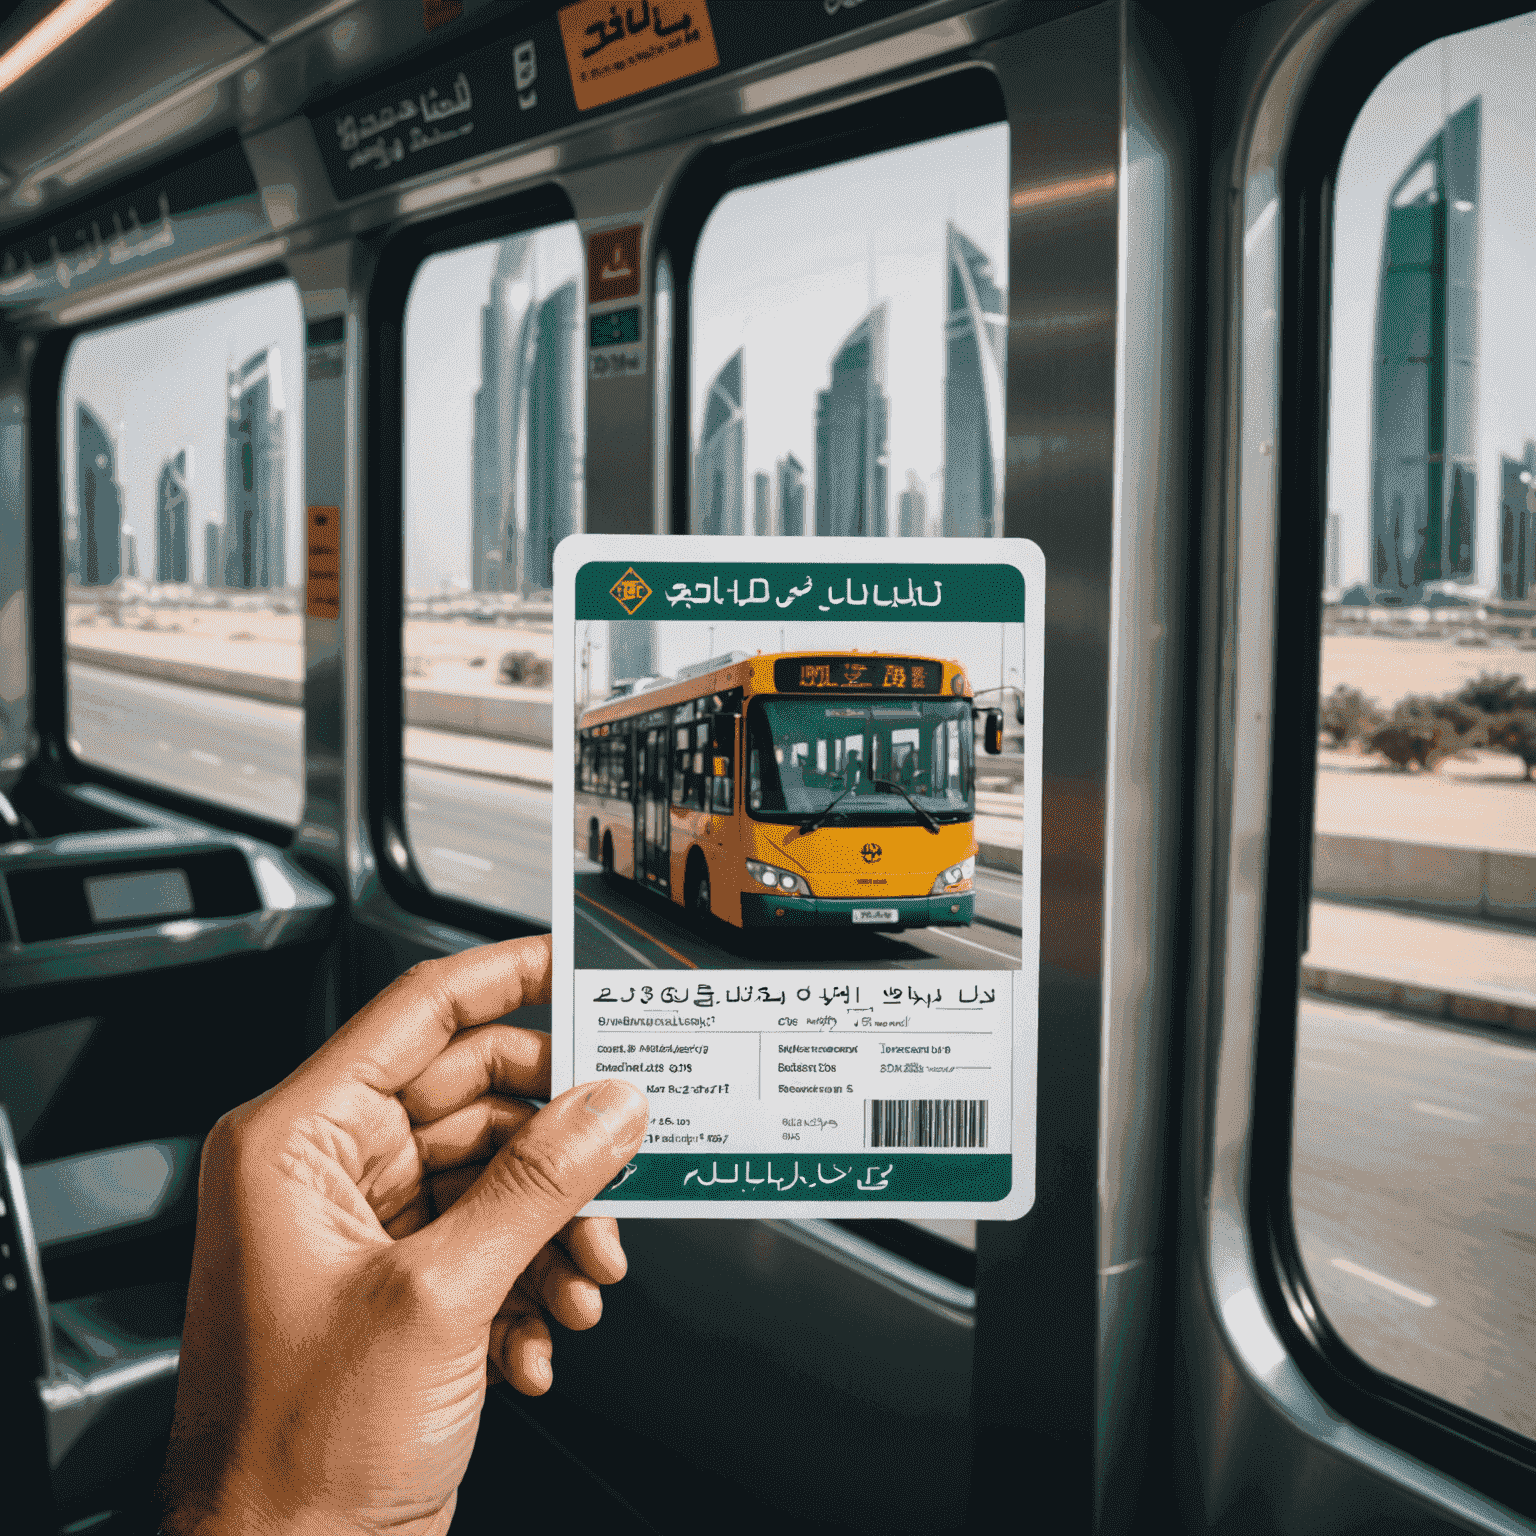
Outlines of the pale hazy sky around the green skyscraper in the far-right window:
[[1536,17],[1442,38],[1376,88],[1339,164],[1333,252],[1329,505],[1346,585],[1367,576],[1372,353],[1387,197],[1453,112],[1482,95],[1478,585],[1499,576],[1499,455],[1536,438]]

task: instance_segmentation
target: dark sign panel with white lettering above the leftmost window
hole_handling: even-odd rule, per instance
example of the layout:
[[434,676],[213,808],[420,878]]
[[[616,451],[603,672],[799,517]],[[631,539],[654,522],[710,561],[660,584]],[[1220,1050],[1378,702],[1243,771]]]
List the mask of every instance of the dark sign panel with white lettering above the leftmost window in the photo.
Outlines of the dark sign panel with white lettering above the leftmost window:
[[40,304],[267,229],[240,144],[0,250],[0,304]]

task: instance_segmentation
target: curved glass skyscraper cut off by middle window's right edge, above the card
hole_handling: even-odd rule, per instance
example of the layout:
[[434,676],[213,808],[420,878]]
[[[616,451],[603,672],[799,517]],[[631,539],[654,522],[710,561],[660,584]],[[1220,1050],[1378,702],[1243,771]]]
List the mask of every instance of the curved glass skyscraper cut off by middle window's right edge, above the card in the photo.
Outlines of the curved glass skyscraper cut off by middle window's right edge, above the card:
[[991,539],[1003,531],[1003,370],[1008,300],[992,263],[945,226],[945,533]]

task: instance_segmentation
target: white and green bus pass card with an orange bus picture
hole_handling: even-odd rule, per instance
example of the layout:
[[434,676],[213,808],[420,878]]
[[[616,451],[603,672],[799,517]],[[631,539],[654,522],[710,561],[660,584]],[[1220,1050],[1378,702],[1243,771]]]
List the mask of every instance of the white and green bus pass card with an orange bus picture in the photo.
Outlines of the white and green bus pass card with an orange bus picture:
[[565,539],[553,1087],[624,1077],[628,1217],[1034,1203],[1044,559]]

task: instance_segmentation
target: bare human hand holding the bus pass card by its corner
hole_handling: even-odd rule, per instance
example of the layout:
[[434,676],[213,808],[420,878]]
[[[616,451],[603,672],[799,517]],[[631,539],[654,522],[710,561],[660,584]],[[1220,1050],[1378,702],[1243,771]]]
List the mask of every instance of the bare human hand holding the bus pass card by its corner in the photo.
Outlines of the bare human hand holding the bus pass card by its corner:
[[487,1020],[548,995],[547,938],[415,966],[209,1134],[167,1531],[445,1531],[487,1370],[544,1392],[544,1312],[598,1321],[624,1249],[573,1218],[647,1106],[511,1097],[548,1094],[550,1041]]

